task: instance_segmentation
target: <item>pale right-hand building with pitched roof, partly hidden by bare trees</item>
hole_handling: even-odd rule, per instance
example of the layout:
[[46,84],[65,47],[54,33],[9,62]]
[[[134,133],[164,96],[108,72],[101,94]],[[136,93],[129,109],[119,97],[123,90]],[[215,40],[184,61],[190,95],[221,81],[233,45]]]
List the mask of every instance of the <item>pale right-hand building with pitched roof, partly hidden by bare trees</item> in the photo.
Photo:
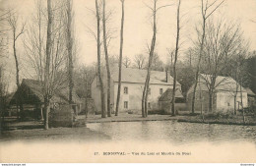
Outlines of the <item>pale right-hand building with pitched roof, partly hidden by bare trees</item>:
[[[208,87],[211,83],[211,75],[201,74],[198,79],[197,89],[196,89],[196,99],[195,99],[195,111],[200,112],[201,106],[203,111],[209,111],[209,93]],[[238,87],[238,88],[236,88]],[[215,90],[213,95],[213,111],[233,111],[234,110],[234,94],[237,89],[236,96],[236,109],[241,109],[241,102],[243,107],[248,106],[247,91],[245,88],[241,88],[239,83],[236,83],[230,77],[218,76],[215,83]],[[187,92],[187,105],[191,110],[192,108],[192,96],[193,96],[194,84],[190,87]],[[201,97],[200,97],[201,94]]]

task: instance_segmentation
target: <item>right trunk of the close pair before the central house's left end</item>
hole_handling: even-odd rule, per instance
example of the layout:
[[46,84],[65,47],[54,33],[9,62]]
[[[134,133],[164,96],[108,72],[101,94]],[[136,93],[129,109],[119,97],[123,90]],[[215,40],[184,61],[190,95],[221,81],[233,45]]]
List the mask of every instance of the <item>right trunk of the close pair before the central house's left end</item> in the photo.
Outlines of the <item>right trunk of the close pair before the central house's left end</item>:
[[104,44],[104,53],[105,53],[105,65],[106,65],[106,77],[107,77],[107,88],[106,88],[106,106],[107,106],[107,116],[111,117],[111,96],[110,96],[110,69],[109,69],[109,61],[108,61],[108,52],[107,52],[107,43],[106,43],[106,26],[105,26],[105,0],[103,0],[103,44]]

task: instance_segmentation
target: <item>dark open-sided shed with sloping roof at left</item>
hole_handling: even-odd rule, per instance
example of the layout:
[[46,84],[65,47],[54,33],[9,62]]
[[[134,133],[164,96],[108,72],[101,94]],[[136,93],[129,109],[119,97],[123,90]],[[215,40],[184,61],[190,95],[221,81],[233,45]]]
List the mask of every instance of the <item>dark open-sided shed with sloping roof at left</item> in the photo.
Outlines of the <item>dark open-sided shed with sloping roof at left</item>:
[[[18,91],[20,91],[22,94],[23,107],[25,111],[23,114],[31,116],[32,118],[42,117],[44,99],[41,82],[24,79],[21,83],[21,86],[19,87],[19,89],[17,89],[17,91],[12,96],[12,99],[10,101],[10,107],[12,111],[19,110],[19,107],[16,106]],[[50,107],[57,108],[60,105],[69,104],[68,96],[68,87],[63,87],[61,89],[56,90],[55,94],[50,99]],[[73,101],[74,105],[77,106],[77,110],[79,111],[81,108],[82,101],[75,92],[73,93]]]

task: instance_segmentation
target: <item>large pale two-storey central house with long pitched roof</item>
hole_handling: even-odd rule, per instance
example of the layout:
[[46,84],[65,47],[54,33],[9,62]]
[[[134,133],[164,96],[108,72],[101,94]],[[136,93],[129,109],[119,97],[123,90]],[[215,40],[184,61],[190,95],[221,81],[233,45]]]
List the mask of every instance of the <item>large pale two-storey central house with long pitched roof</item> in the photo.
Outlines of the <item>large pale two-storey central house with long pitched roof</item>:
[[[147,77],[147,70],[132,68],[122,68],[121,93],[119,102],[119,112],[133,111],[138,112],[142,108],[142,93]],[[106,73],[102,75],[106,100]],[[149,87],[148,109],[159,108],[160,95],[168,88],[172,88],[173,79],[169,72],[151,71]],[[111,70],[111,107],[115,111],[116,97],[118,89],[118,68]],[[181,90],[180,83],[177,89]],[[95,100],[96,112],[101,111],[100,88],[98,77],[92,83],[92,98]],[[106,104],[106,102],[105,102]],[[139,111],[140,113],[140,111]]]

